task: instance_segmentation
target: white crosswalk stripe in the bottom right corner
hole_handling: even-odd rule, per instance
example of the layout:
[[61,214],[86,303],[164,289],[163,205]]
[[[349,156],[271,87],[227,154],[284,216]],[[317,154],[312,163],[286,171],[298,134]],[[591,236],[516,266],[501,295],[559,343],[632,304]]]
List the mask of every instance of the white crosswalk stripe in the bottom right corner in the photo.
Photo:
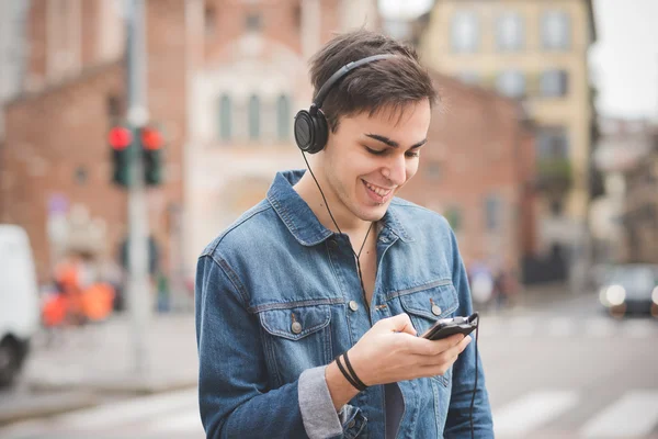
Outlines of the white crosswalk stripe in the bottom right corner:
[[658,425],[658,391],[635,391],[590,419],[586,438],[631,438],[647,435]]

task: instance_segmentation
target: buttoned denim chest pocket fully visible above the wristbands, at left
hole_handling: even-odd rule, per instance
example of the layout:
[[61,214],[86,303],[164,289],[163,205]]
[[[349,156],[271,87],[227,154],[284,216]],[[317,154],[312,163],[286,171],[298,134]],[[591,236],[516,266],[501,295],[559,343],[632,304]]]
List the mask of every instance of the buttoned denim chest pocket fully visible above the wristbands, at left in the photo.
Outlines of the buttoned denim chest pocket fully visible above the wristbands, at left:
[[306,369],[331,361],[329,305],[286,306],[259,313],[268,369],[279,385],[297,380]]

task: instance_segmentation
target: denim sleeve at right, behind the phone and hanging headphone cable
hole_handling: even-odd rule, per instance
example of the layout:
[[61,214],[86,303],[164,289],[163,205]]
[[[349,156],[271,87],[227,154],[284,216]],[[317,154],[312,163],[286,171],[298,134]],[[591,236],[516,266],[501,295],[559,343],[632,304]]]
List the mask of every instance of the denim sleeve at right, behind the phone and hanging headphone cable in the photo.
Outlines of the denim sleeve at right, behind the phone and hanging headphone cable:
[[[467,316],[473,313],[470,290],[468,288],[466,270],[457,248],[457,241],[452,230],[451,241],[453,252],[452,278],[460,297],[460,307],[456,311],[456,315]],[[453,365],[453,386],[447,409],[447,419],[445,421],[445,438],[470,438],[470,401],[475,385],[475,356],[476,344],[474,340],[460,354],[460,358]],[[476,438],[488,439],[494,438],[491,406],[489,405],[489,396],[485,386],[485,373],[479,354],[477,361],[477,391],[473,407],[473,426]]]

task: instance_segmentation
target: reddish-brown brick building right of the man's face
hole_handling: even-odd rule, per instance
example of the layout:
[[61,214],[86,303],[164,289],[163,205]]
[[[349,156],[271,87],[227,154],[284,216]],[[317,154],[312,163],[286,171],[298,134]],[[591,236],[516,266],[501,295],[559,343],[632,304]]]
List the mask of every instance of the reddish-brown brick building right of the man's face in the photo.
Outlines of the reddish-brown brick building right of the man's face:
[[467,264],[520,272],[536,251],[532,122],[514,100],[434,74],[441,103],[401,196],[442,213]]

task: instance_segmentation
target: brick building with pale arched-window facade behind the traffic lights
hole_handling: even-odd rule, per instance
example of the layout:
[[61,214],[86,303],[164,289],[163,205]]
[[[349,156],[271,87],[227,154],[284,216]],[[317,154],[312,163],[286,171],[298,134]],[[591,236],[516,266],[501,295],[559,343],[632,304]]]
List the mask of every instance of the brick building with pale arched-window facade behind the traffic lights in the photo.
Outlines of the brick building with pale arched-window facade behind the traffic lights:
[[[374,0],[146,4],[146,95],[168,139],[149,221],[161,268],[181,271],[297,158],[290,125],[310,100],[308,56],[332,32],[376,25],[377,10]],[[125,112],[123,5],[30,2],[23,90],[4,106],[0,221],[27,229],[42,281],[71,239],[115,256],[126,236],[126,194],[110,183],[105,143]]]

